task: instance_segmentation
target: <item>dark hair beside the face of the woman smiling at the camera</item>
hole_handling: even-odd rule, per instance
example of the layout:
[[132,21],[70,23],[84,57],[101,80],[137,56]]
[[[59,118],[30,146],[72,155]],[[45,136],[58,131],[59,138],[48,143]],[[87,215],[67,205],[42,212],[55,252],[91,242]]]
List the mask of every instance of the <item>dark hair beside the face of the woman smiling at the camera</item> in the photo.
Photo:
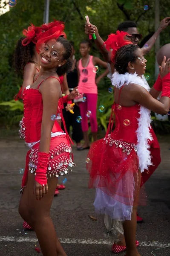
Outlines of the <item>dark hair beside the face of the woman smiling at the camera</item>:
[[72,54],[72,45],[67,39],[61,36],[58,38],[57,42],[60,42],[65,49],[65,52],[63,53],[63,60],[66,60],[66,63],[57,69],[58,76],[62,76],[72,69],[72,61],[69,59]]

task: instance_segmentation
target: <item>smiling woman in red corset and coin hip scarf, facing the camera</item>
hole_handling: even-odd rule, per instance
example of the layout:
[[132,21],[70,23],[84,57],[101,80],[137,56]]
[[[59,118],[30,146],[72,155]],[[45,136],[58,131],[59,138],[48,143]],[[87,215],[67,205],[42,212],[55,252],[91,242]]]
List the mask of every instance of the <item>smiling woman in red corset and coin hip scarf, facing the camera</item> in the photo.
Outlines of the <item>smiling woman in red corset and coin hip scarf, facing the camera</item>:
[[58,76],[70,69],[72,51],[63,29],[60,23],[40,36],[36,49],[41,70],[34,83],[23,90],[23,131],[30,150],[26,156],[19,212],[34,228],[44,256],[66,256],[49,212],[58,177],[66,175],[68,168],[74,166],[69,136],[53,121],[58,112],[62,116],[63,103],[78,96],[75,88],[69,96],[61,98]]

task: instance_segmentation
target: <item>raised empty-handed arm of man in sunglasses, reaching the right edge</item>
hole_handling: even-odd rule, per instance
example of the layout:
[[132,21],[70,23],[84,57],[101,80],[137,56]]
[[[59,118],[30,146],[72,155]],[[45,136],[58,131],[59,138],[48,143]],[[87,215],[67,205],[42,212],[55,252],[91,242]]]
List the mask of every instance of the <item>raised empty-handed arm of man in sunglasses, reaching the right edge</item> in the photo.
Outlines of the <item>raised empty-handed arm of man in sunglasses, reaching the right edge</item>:
[[148,47],[142,47],[142,51],[144,52],[144,54],[146,54],[147,52],[150,52],[151,48],[153,47],[153,45],[156,42],[156,39],[158,37],[158,35],[161,33],[162,30],[166,29],[166,27],[170,24],[170,17],[166,17],[163,20],[161,20],[160,26],[158,27],[158,29],[156,30],[156,32],[153,34],[153,36],[146,42],[145,45],[148,45]]

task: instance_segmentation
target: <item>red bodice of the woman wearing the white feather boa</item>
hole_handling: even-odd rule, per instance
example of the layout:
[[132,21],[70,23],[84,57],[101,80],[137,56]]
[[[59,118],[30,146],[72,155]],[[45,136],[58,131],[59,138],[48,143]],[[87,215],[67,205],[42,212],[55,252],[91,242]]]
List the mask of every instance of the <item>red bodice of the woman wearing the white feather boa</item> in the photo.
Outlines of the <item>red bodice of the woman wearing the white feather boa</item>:
[[111,133],[114,140],[121,140],[128,143],[137,143],[136,130],[140,106],[138,104],[124,107],[114,103],[115,129]]

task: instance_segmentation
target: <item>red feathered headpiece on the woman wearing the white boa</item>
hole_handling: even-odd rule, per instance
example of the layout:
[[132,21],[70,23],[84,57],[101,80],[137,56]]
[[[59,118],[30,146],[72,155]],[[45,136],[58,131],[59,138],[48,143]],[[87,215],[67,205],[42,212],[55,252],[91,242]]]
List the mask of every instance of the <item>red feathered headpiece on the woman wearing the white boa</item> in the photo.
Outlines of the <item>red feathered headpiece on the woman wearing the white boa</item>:
[[114,62],[115,54],[118,49],[120,49],[124,45],[133,44],[131,41],[125,39],[126,35],[129,34],[124,31],[120,32],[118,30],[115,34],[109,35],[107,41],[104,42],[108,51],[112,49],[112,62]]

